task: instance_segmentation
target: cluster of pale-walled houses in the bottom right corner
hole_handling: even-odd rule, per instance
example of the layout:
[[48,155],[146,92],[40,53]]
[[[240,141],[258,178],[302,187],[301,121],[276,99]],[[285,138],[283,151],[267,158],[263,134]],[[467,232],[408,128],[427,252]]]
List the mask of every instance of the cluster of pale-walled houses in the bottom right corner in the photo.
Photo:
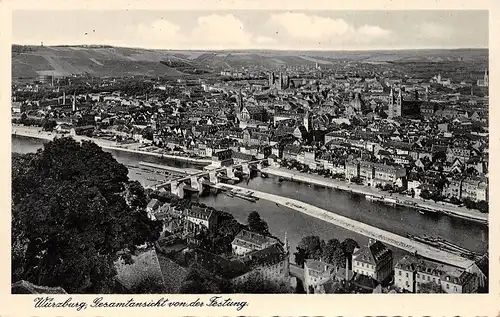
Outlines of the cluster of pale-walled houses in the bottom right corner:
[[488,255],[464,269],[418,255],[393,263],[393,253],[380,241],[370,242],[346,259],[345,268],[320,260],[304,264],[308,293],[334,293],[350,289],[361,293],[477,293],[487,288]]

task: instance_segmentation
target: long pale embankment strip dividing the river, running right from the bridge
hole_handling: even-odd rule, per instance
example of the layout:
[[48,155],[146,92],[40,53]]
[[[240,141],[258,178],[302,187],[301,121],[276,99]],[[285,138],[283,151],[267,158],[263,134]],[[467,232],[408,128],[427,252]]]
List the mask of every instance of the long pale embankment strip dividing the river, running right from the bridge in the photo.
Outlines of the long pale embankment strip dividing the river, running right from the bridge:
[[[243,193],[248,192],[248,188],[243,188],[235,185],[224,184],[224,187],[232,188],[233,191],[238,192],[241,191]],[[386,243],[388,245],[394,246],[396,248],[408,251],[410,253],[417,252],[418,255],[433,259],[435,261],[440,261],[449,265],[453,265],[455,267],[462,268],[464,270],[469,269],[474,262],[455,255],[453,253],[449,253],[429,245],[420,243],[415,240],[411,240],[406,237],[402,237],[400,235],[394,234],[389,231],[385,231],[365,223],[349,219],[344,216],[337,215],[333,212],[327,211],[325,209],[321,209],[319,207],[315,207],[313,205],[291,199],[278,195],[268,194],[264,192],[260,192],[257,190],[250,190],[253,192],[253,196],[265,199],[268,201],[272,201],[279,205],[288,207],[290,209],[299,211],[311,217],[315,217],[321,219],[323,221],[329,222],[338,227],[345,228],[347,230],[356,232],[358,234],[364,235],[369,238],[373,238],[379,240],[380,242]]]

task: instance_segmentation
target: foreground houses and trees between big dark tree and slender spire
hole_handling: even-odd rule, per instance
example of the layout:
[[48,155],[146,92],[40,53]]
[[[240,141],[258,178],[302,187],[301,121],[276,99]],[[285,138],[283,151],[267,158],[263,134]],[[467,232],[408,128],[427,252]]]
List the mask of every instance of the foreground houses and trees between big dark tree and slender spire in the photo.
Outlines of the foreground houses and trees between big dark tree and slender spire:
[[[163,279],[171,281],[185,277],[194,263],[218,277],[232,283],[245,282],[258,275],[260,278],[289,284],[289,247],[286,240],[241,230],[231,241],[229,252],[207,251],[200,244],[205,234],[218,230],[218,211],[193,205],[173,206],[152,199],[147,206],[148,215],[163,223],[156,244],[161,258]],[[220,242],[218,242],[220,243]],[[178,292],[181,283],[166,283],[171,292]]]

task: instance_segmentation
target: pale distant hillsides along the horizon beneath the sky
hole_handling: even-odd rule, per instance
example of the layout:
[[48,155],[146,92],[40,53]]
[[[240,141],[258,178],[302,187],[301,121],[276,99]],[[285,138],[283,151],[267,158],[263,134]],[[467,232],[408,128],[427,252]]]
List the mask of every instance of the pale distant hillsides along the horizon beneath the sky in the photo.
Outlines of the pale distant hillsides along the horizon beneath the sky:
[[487,49],[394,51],[180,51],[111,46],[12,46],[12,77],[36,78],[88,73],[94,76],[183,76],[193,70],[244,66],[329,65],[339,60],[366,63],[487,62]]

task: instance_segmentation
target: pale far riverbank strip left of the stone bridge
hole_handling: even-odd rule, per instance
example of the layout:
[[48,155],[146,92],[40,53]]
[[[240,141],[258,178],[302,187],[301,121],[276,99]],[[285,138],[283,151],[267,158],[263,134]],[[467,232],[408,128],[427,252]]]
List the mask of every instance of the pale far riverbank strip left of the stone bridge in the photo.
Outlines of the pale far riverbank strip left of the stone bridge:
[[[12,126],[11,134],[24,136],[24,137],[28,137],[28,138],[43,139],[43,140],[48,140],[48,141],[54,140],[54,138],[56,136],[61,136],[61,135],[57,135],[56,133],[42,131],[41,128],[25,127],[25,126],[19,126],[19,125]],[[139,146],[138,143],[127,144],[127,145],[117,145],[113,141],[96,139],[96,138],[89,138],[89,137],[80,136],[80,135],[72,136],[72,138],[75,139],[76,141],[82,141],[82,140],[92,141],[95,144],[102,147],[103,149],[107,149],[107,150],[122,151],[122,152],[129,152],[129,153],[142,154],[142,155],[150,155],[150,156],[155,156],[155,157],[160,157],[160,158],[168,158],[168,159],[172,159],[172,160],[188,162],[188,163],[197,164],[197,165],[208,165],[208,164],[212,163],[212,161],[209,159],[198,159],[198,158],[156,153],[156,152],[150,152],[150,151],[141,151],[138,149],[131,148],[134,146],[135,147]]]

